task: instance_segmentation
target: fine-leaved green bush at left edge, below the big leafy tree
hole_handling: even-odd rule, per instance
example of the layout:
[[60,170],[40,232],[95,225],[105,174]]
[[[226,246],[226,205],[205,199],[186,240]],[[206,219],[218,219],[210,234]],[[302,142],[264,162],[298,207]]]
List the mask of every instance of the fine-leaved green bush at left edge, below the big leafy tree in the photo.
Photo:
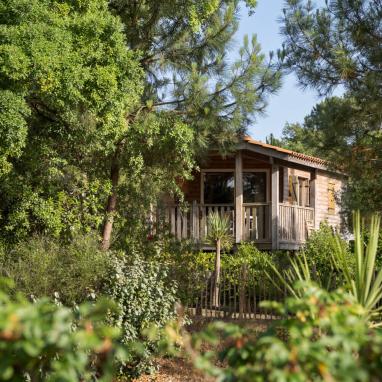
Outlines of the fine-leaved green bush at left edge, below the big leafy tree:
[[68,244],[33,237],[0,259],[3,276],[16,290],[36,298],[59,298],[67,306],[94,298],[108,273],[110,254],[100,251],[95,236],[78,236]]

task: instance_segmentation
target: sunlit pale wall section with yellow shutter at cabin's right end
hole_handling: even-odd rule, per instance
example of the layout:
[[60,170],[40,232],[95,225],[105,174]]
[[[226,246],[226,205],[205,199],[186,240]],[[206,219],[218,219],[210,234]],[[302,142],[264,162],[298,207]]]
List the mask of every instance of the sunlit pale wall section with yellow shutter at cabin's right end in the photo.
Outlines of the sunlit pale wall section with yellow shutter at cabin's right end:
[[[334,184],[335,190],[335,210],[329,211],[329,184]],[[344,181],[341,177],[332,175],[328,172],[319,170],[316,179],[316,228],[319,228],[320,222],[327,220],[332,227],[341,226],[341,208],[338,198]]]

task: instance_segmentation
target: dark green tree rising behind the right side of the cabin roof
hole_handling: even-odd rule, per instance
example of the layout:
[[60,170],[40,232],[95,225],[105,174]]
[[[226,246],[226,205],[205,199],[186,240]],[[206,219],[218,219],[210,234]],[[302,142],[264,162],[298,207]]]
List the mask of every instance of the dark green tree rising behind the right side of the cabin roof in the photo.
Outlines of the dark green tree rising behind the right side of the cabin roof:
[[348,175],[342,204],[349,217],[354,209],[364,214],[382,210],[382,136],[369,128],[368,111],[356,99],[326,98],[303,124],[285,126],[280,145],[323,158],[329,168]]

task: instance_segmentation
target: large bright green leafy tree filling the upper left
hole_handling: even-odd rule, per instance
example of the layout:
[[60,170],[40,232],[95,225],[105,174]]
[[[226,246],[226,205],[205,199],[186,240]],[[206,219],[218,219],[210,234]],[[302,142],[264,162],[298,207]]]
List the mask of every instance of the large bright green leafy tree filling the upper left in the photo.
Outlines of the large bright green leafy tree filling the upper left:
[[142,71],[106,1],[0,5],[1,232],[9,240],[97,228],[100,176]]

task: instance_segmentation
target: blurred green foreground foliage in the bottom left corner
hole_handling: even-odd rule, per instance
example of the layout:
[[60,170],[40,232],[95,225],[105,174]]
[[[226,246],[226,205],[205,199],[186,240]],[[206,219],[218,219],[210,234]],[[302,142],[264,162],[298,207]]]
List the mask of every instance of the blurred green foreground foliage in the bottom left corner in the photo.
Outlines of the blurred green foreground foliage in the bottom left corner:
[[110,304],[81,305],[75,315],[45,299],[0,293],[2,381],[111,381],[115,357],[127,357],[119,332],[104,325]]

